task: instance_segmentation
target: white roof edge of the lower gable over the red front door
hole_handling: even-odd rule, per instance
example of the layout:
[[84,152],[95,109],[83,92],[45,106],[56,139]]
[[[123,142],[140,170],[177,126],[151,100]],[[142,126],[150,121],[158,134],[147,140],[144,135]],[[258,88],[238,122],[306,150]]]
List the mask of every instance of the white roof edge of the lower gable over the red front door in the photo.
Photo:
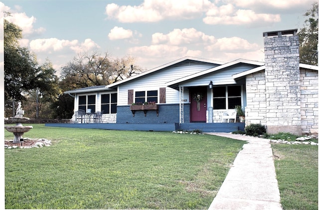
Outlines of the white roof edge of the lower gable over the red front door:
[[221,70],[221,69],[224,69],[224,68],[239,64],[239,63],[252,64],[252,65],[258,65],[258,66],[265,65],[265,63],[259,62],[259,61],[252,61],[252,60],[246,60],[246,59],[237,59],[237,60],[231,61],[229,63],[225,63],[223,65],[220,65],[220,66],[217,66],[217,67],[214,67],[214,68],[211,68],[211,69],[207,69],[207,70],[198,72],[196,74],[192,74],[192,75],[189,75],[189,76],[186,76],[186,77],[183,77],[183,78],[179,78],[177,80],[173,80],[171,82],[166,83],[166,85],[168,87],[174,87],[178,83],[181,83],[181,82],[184,82],[184,81],[187,81],[187,80],[190,80],[190,79],[194,79],[196,77],[200,77],[200,76],[203,76],[205,74],[209,74],[209,73],[212,73],[212,72],[215,72],[215,71],[218,71],[218,70]]

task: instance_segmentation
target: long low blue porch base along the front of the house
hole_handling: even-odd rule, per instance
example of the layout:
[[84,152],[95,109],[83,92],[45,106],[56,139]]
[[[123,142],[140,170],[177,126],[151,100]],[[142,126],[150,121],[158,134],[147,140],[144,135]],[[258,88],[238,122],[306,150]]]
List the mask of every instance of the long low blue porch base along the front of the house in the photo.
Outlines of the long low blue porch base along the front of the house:
[[49,127],[70,127],[104,130],[137,130],[137,131],[174,131],[174,130],[200,130],[202,132],[233,132],[244,130],[245,123],[46,123]]

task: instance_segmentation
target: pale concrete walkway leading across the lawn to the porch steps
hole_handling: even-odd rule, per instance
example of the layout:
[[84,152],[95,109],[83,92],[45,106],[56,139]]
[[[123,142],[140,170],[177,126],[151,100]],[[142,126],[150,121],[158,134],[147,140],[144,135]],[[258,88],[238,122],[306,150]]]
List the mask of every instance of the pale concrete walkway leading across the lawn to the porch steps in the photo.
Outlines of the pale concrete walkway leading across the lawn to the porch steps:
[[208,210],[282,210],[269,139],[209,133],[248,141]]

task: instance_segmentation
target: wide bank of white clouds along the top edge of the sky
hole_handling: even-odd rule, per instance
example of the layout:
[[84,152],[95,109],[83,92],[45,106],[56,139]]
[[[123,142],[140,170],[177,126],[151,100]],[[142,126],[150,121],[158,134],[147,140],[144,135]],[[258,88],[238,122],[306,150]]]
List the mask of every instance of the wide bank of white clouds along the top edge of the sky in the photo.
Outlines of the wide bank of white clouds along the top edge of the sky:
[[[157,22],[164,19],[192,19],[206,14],[206,24],[271,25],[281,21],[279,11],[303,6],[304,0],[144,0],[139,5],[111,3],[106,14],[120,22]],[[308,5],[309,7],[309,5]]]

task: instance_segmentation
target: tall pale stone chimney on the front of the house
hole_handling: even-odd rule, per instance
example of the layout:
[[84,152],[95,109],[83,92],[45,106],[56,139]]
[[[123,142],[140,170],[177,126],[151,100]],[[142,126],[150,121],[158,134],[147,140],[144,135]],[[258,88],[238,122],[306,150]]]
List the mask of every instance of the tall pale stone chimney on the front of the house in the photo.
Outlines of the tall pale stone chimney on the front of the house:
[[300,69],[297,29],[264,32],[268,133],[300,135]]

